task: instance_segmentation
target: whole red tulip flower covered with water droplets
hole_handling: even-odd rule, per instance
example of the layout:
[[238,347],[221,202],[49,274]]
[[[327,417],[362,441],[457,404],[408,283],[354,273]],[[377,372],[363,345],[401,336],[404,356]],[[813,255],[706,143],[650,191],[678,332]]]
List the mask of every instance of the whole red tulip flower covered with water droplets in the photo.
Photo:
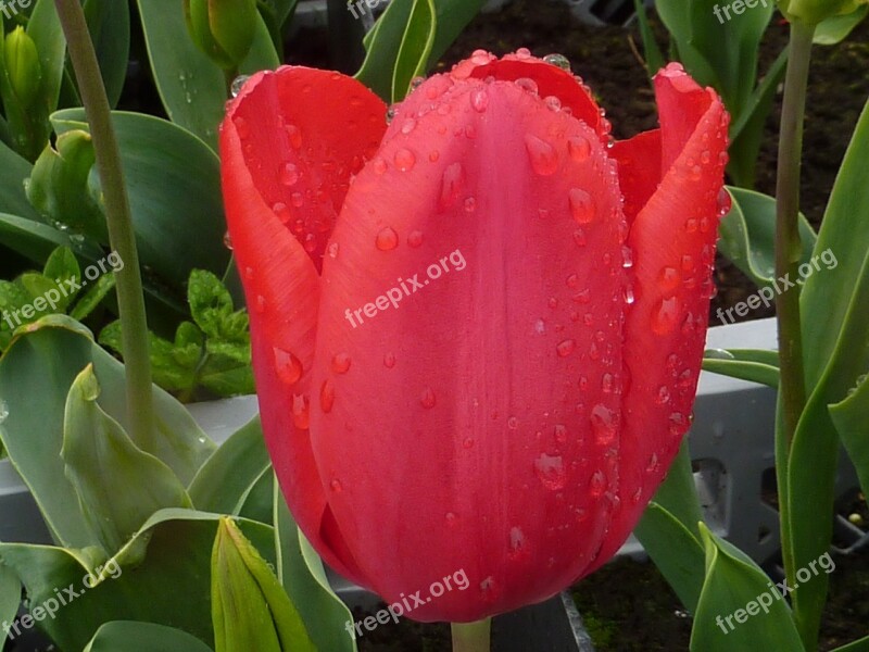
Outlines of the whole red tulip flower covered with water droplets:
[[[690,422],[729,117],[676,64],[610,146],[565,70],[482,51],[393,113],[337,73],[248,82],[223,125],[263,428],[300,527],[418,620],[607,561]],[[454,585],[455,582],[453,582]]]

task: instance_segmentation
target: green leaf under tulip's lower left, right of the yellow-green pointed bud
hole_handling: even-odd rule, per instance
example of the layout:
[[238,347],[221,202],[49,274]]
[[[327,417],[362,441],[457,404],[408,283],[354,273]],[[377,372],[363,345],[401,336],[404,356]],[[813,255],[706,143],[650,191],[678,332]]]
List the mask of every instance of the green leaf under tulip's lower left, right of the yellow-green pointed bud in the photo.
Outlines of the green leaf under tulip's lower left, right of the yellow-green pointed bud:
[[317,553],[295,525],[275,481],[275,546],[277,569],[284,588],[299,609],[317,650],[355,652],[356,641],[348,636],[353,615],[335,594]]

